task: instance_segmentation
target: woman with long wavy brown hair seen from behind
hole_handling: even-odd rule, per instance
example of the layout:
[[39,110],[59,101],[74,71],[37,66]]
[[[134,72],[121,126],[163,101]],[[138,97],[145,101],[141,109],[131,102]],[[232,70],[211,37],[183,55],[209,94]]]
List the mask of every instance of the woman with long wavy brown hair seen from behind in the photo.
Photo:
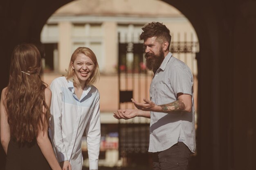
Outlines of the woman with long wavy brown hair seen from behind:
[[48,137],[51,91],[39,72],[41,57],[33,44],[14,48],[8,86],[0,102],[1,143],[6,170],[61,170]]

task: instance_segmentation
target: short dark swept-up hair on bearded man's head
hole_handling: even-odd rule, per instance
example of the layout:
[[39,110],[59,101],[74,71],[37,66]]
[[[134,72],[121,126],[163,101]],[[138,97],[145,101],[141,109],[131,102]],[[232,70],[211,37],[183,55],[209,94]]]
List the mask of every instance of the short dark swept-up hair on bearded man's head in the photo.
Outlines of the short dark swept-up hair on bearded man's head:
[[159,43],[163,43],[164,41],[167,41],[169,43],[168,49],[170,48],[170,44],[171,44],[170,30],[163,23],[150,22],[142,28],[142,31],[143,32],[141,33],[141,35],[139,35],[140,40],[145,40],[151,37],[157,37],[156,40]]

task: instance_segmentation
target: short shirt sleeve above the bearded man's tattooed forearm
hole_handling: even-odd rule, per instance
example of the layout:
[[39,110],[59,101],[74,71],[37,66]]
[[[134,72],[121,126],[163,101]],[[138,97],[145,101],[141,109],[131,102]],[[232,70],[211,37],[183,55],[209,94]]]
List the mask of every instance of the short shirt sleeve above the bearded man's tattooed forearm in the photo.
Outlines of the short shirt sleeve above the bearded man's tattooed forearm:
[[170,83],[176,97],[178,93],[190,94],[192,96],[193,74],[184,65],[173,66]]

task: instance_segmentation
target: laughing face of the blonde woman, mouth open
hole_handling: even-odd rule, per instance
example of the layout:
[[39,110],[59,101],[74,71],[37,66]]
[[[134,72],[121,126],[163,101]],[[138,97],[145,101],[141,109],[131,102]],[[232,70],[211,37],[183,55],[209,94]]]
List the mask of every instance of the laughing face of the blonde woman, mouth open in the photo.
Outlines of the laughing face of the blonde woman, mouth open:
[[75,76],[81,85],[85,85],[86,81],[94,72],[95,65],[90,57],[79,53],[74,62],[72,62],[72,69],[74,69]]

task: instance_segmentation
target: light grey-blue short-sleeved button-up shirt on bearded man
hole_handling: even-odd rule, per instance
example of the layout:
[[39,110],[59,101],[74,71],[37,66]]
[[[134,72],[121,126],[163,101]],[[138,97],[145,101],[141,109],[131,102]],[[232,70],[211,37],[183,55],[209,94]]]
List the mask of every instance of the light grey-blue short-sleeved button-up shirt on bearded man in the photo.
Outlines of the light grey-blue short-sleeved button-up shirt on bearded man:
[[178,100],[177,94],[192,96],[190,113],[150,112],[149,152],[166,150],[183,142],[195,151],[195,109],[193,100],[193,74],[189,67],[169,52],[156,71],[150,85],[150,100],[164,105]]

